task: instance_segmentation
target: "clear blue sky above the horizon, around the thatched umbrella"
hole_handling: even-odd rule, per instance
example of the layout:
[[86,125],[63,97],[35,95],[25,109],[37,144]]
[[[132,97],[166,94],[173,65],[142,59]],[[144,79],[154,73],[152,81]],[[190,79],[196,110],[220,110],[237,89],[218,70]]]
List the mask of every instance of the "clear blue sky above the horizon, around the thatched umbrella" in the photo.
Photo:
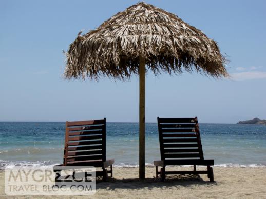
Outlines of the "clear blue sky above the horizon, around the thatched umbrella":
[[[62,78],[81,29],[97,28],[137,1],[0,1],[0,121],[137,122],[139,82]],[[148,73],[146,121],[194,117],[202,123],[266,118],[265,1],[146,1],[218,42],[232,79]]]

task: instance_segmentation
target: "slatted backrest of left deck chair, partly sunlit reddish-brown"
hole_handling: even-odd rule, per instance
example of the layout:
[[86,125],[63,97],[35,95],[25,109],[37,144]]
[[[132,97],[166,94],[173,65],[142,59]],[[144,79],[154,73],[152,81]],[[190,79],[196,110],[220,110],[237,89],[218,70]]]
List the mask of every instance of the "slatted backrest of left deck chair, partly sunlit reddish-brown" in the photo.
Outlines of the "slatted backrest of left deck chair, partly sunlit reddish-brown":
[[64,166],[106,161],[106,118],[66,122]]

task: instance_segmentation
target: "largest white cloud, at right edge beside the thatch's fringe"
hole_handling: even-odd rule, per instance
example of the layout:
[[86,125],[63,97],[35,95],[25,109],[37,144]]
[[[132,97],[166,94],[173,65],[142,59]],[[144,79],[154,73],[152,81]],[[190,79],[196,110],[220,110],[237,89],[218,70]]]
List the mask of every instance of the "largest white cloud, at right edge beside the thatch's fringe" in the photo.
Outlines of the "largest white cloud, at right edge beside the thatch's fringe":
[[231,73],[230,75],[232,79],[236,81],[266,78],[266,72],[259,72],[259,71]]

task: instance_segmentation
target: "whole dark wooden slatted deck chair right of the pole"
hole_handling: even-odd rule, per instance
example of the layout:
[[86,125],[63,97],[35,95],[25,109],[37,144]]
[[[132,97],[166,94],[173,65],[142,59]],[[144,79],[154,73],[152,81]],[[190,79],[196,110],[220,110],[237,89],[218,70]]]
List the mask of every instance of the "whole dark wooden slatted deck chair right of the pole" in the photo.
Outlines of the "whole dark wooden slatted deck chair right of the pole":
[[[214,181],[214,160],[204,160],[200,141],[198,118],[157,118],[161,160],[154,161],[156,177],[161,181],[166,174],[208,174]],[[165,171],[167,165],[194,165],[193,171]],[[196,165],[207,166],[207,171],[197,171]],[[158,172],[158,166],[162,167]]]

